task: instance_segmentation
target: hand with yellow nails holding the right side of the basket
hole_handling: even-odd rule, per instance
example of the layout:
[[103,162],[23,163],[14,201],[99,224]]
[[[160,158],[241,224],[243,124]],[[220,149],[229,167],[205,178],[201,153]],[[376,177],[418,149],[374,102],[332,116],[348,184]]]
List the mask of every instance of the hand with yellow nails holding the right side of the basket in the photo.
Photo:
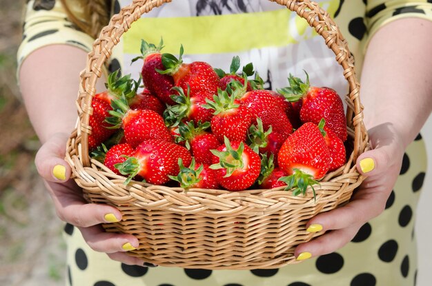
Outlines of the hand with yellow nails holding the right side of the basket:
[[402,165],[402,138],[390,123],[371,128],[369,138],[372,150],[361,154],[356,165],[367,178],[348,204],[308,221],[308,231],[322,229],[326,234],[299,245],[295,249],[297,260],[335,252],[350,242],[362,225],[384,211]]

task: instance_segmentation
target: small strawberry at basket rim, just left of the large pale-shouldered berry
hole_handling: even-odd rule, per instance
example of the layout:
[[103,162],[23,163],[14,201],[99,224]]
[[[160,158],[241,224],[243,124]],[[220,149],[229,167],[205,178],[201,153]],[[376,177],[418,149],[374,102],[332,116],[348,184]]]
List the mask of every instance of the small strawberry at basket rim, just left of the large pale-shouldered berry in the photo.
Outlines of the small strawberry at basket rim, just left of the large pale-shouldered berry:
[[259,187],[262,189],[273,189],[275,187],[285,186],[286,183],[278,181],[279,178],[284,176],[286,176],[286,172],[279,167],[275,167],[273,154],[271,154],[270,157],[267,157],[266,154],[262,154],[261,172],[258,177]]

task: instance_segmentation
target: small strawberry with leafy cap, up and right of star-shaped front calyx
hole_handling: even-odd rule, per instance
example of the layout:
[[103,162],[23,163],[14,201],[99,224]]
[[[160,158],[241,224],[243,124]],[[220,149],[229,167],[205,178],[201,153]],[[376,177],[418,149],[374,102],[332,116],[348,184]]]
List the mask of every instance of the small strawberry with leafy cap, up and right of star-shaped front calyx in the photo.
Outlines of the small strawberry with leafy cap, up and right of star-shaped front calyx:
[[277,153],[279,153],[280,147],[284,143],[284,138],[277,132],[273,132],[273,128],[270,125],[264,132],[261,119],[257,118],[257,125],[251,125],[248,132],[248,145],[256,153],[259,154],[272,154],[274,161],[277,162]]

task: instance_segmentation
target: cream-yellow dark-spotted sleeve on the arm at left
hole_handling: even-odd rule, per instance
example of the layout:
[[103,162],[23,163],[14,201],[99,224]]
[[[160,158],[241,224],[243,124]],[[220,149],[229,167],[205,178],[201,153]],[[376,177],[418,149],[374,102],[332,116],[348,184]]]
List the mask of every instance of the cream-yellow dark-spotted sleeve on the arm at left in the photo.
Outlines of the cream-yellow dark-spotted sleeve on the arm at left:
[[[77,1],[70,1],[77,3]],[[71,7],[79,17],[82,7]],[[89,52],[94,39],[69,21],[61,1],[30,0],[24,10],[23,40],[17,52],[17,74],[24,59],[46,45],[74,45]]]

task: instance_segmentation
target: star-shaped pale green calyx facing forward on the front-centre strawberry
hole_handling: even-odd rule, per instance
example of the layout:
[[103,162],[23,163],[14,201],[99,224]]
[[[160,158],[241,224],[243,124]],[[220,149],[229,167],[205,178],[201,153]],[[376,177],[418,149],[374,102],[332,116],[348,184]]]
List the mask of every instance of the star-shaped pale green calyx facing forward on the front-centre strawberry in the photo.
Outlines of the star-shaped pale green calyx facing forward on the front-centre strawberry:
[[219,157],[219,163],[210,165],[210,169],[219,170],[225,169],[226,174],[224,178],[227,178],[233,174],[235,170],[244,168],[243,151],[244,143],[240,143],[237,150],[234,150],[231,146],[229,139],[224,136],[224,143],[226,151],[210,150],[213,155]]

